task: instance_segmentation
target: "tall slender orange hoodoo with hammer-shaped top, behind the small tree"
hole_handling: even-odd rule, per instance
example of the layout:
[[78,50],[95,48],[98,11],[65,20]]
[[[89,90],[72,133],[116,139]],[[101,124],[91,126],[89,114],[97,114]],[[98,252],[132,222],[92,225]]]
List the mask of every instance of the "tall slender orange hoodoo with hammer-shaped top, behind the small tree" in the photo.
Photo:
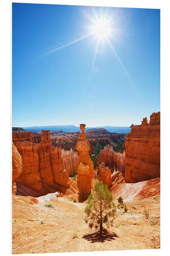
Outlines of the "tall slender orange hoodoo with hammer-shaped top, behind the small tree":
[[86,140],[85,124],[80,124],[82,133],[77,141],[77,150],[79,151],[79,165],[77,185],[79,188],[79,202],[84,202],[91,193],[91,184],[94,177],[93,163],[89,156],[90,145]]

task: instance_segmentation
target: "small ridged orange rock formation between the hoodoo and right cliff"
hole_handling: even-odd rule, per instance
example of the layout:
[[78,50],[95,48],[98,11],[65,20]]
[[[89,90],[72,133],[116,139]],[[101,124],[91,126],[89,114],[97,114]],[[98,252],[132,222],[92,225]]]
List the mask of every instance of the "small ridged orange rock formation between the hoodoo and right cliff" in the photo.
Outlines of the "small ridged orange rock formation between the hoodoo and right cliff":
[[119,170],[122,170],[122,172],[125,171],[125,152],[117,153],[113,151],[113,148],[111,145],[107,145],[104,147],[104,150],[101,150],[99,159],[98,159],[98,166],[101,163],[105,163],[106,166],[108,166],[112,173],[119,172]]

